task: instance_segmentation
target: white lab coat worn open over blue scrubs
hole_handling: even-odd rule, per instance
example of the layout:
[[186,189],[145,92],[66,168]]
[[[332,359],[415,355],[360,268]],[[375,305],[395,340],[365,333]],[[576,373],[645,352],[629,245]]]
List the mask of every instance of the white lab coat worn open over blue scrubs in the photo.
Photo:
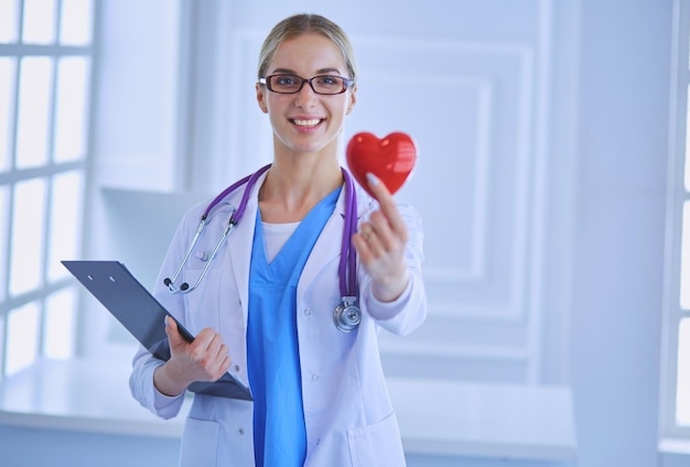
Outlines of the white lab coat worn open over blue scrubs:
[[[173,295],[163,285],[163,278],[173,274],[180,264],[206,204],[195,206],[184,217],[153,291],[192,334],[212,327],[223,336],[233,359],[230,371],[245,383],[248,382],[249,260],[257,194],[265,176],[255,185],[244,217],[200,287],[188,294]],[[227,226],[230,206],[239,204],[242,192],[244,187],[233,193],[229,204],[209,217],[200,246],[177,284],[195,281],[204,265],[200,252],[213,250]],[[405,466],[405,456],[381,370],[377,334],[379,328],[408,334],[427,316],[421,276],[421,220],[411,207],[400,207],[410,238],[407,261],[411,281],[406,293],[395,303],[377,302],[370,293],[369,278],[359,268],[362,324],[349,334],[343,333],[333,323],[333,311],[341,302],[338,259],[344,194],[345,189],[304,265],[298,286],[297,326],[308,439],[304,465],[400,467]],[[375,207],[375,202],[360,188],[357,202],[360,217]],[[169,398],[155,390],[153,370],[161,363],[141,349],[133,360],[130,388],[143,406],[170,419],[177,415],[183,397]],[[252,438],[252,402],[195,394],[185,422],[181,466],[254,466]]]

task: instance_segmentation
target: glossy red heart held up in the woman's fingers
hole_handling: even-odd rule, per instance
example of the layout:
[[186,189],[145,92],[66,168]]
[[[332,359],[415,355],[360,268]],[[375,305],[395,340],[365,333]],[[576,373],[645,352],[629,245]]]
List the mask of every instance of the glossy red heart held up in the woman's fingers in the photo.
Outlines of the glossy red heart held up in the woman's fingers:
[[367,132],[355,134],[347,143],[347,165],[359,185],[374,196],[367,182],[370,172],[396,193],[408,178],[417,161],[414,142],[406,133],[390,133],[384,139]]

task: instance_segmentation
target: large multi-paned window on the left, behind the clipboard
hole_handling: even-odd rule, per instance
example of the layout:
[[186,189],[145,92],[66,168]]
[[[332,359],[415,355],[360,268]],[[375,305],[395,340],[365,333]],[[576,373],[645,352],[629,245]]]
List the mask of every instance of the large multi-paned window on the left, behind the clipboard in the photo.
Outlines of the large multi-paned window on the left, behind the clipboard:
[[75,354],[91,0],[0,0],[0,380]]

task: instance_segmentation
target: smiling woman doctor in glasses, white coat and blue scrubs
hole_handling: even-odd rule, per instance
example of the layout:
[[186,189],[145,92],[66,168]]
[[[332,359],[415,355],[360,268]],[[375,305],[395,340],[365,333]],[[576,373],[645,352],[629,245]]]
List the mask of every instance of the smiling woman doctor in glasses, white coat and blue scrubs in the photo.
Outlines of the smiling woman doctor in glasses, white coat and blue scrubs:
[[[351,332],[338,329],[333,311],[349,205],[338,154],[357,90],[351,43],[323,17],[288,18],[267,36],[258,77],[272,165],[247,188],[241,220],[200,285],[174,294],[163,278],[183,262],[206,204],[182,220],[154,295],[196,338],[187,344],[169,319],[170,360],[141,349],[131,392],[170,419],[194,381],[230,371],[249,385],[254,401],[194,395],[182,466],[403,466],[377,334],[405,335],[425,318],[421,220],[376,177],[376,199],[357,188],[352,246],[362,317]],[[209,217],[183,281],[200,276],[242,192]]]

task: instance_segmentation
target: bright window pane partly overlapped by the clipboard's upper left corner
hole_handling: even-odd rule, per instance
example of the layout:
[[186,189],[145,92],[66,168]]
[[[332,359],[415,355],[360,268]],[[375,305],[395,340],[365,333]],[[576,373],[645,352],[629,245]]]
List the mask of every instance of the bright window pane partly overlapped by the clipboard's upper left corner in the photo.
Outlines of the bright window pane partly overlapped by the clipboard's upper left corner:
[[51,227],[48,245],[48,279],[68,275],[61,260],[76,259],[82,243],[82,172],[66,172],[53,177],[51,195]]

